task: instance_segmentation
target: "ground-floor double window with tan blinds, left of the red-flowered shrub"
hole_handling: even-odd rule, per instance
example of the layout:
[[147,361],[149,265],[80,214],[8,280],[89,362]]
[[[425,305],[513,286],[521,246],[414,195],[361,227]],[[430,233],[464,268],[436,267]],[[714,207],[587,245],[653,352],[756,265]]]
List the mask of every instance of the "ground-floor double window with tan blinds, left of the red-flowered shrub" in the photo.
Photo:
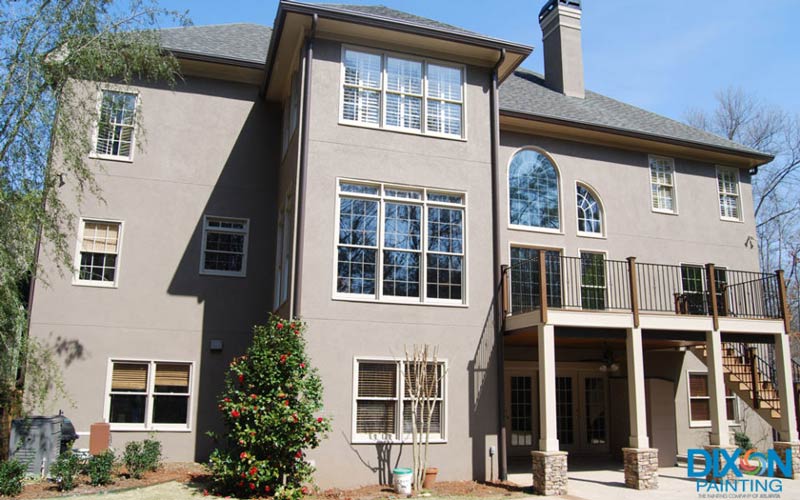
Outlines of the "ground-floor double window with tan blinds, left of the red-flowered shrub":
[[187,429],[191,363],[112,361],[106,421],[117,429]]

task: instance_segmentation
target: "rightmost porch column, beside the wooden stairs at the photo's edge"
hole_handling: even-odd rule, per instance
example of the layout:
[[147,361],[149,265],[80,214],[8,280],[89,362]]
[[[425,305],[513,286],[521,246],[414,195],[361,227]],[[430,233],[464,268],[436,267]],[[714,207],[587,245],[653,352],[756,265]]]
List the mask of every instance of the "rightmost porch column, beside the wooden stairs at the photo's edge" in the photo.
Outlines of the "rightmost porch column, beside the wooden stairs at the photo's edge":
[[[794,381],[792,380],[792,354],[789,336],[775,336],[775,371],[777,372],[778,396],[781,402],[781,419],[778,434],[780,441],[774,443],[775,452],[785,460],[786,450],[792,454],[791,479],[800,479],[800,439],[797,435],[795,415]],[[783,475],[779,467],[775,472]]]

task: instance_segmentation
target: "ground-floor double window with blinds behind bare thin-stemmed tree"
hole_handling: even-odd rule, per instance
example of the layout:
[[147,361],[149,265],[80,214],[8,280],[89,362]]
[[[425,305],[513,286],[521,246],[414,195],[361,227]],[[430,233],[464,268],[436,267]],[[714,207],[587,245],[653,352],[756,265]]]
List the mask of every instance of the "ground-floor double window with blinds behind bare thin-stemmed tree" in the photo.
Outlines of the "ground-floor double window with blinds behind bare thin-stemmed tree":
[[[426,380],[434,388],[431,417],[431,440],[445,440],[445,375],[444,362],[428,367]],[[412,400],[408,379],[416,380],[412,367],[401,360],[356,360],[354,388],[354,441],[407,441],[412,432]],[[418,412],[417,428],[422,428]]]

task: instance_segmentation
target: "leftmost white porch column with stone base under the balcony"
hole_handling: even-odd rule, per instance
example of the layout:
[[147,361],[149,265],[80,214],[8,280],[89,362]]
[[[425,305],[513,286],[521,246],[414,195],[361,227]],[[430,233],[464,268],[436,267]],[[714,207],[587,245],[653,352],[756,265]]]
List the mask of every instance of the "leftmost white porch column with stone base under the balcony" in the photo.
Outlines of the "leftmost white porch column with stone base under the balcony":
[[567,493],[567,453],[558,450],[556,432],[555,327],[537,327],[539,343],[539,450],[531,452],[533,491],[539,495]]

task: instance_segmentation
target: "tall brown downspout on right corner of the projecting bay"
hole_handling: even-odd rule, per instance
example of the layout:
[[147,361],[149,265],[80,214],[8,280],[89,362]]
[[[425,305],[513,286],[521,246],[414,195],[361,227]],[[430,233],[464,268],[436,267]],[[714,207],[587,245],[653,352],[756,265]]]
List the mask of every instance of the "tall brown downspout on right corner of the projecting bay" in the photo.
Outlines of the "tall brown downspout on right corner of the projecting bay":
[[501,307],[503,275],[500,269],[500,256],[503,249],[500,241],[500,203],[497,198],[502,185],[498,154],[500,151],[500,104],[498,100],[498,75],[500,65],[506,59],[506,49],[500,50],[500,59],[492,70],[492,86],[490,90],[491,129],[492,129],[492,265],[494,266],[494,325],[495,352],[497,353],[497,474],[501,481],[508,478],[508,461],[506,457],[506,421],[505,421],[505,352],[503,349],[503,331],[505,330],[503,309]]

